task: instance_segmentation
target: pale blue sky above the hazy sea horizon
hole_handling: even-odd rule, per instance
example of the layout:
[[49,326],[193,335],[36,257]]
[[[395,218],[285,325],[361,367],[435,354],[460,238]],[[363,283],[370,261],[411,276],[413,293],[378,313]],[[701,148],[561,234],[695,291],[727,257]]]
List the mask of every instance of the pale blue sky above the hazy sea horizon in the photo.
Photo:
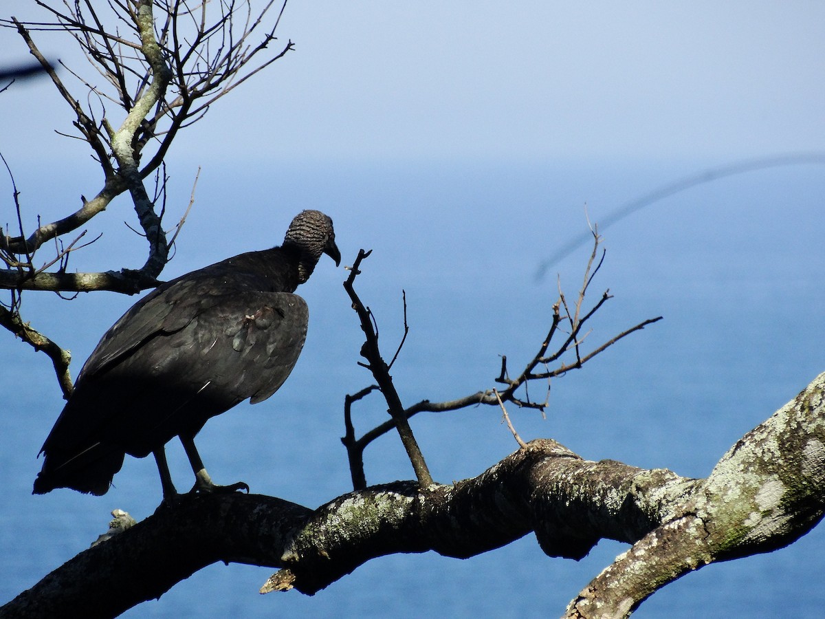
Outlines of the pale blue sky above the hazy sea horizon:
[[[214,106],[211,133],[189,132],[174,156],[712,165],[823,149],[823,26],[820,2],[294,1],[280,35],[295,52]],[[38,39],[67,57],[64,40]],[[13,31],[0,49],[27,56]],[[21,120],[0,148],[42,154],[54,138],[33,127],[64,104],[48,84],[25,91],[0,97]],[[214,149],[216,135],[231,139]]]

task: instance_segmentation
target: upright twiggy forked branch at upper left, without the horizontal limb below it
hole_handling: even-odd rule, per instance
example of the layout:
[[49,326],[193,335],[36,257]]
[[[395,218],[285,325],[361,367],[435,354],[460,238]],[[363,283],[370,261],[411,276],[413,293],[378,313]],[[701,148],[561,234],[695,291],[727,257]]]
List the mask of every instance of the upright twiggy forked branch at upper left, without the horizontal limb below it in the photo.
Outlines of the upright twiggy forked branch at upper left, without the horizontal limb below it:
[[[66,2],[59,8],[46,2],[37,4],[50,12],[54,21],[23,22],[12,17],[0,20],[0,26],[16,29],[40,70],[49,75],[73,110],[73,124],[79,137],[92,147],[105,182],[95,198],[83,201],[80,210],[39,226],[27,238],[0,233],[0,248],[9,253],[34,253],[50,239],[86,224],[116,196],[129,191],[148,240],[148,258],[140,269],[145,276],[142,279],[157,278],[167,262],[169,243],[143,180],[162,165],[178,130],[291,49],[290,42],[280,53],[266,53],[267,45],[276,40],[275,30],[285,2],[274,25],[256,45],[252,45],[250,38],[262,28],[274,2],[268,2],[255,14],[248,0],[203,4],[196,9],[200,19],[193,19],[194,13],[186,2],[127,0],[110,2],[103,8],[96,8],[90,0]],[[164,10],[157,21],[156,35],[155,11],[160,9]],[[246,18],[236,19],[243,12]],[[31,35],[34,31],[63,32],[72,37],[92,68],[105,78],[105,85],[94,86],[80,73],[67,68],[84,90],[101,103],[99,120],[91,106],[84,109],[80,103],[87,97],[76,97],[53,64],[40,53]],[[224,45],[227,41],[229,46]],[[267,55],[255,64],[259,57]],[[119,114],[125,116],[115,123],[113,119]],[[142,164],[144,149],[150,144],[154,144],[154,151],[148,154],[148,163]]]

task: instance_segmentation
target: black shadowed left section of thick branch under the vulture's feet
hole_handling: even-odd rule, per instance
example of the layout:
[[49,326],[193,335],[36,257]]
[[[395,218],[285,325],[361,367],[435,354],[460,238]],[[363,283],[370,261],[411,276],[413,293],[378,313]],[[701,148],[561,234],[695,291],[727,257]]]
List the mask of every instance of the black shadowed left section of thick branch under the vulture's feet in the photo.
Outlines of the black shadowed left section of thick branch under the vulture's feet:
[[309,513],[295,503],[246,494],[158,508],[47,574],[0,607],[0,617],[117,617],[219,560],[280,565],[288,537]]

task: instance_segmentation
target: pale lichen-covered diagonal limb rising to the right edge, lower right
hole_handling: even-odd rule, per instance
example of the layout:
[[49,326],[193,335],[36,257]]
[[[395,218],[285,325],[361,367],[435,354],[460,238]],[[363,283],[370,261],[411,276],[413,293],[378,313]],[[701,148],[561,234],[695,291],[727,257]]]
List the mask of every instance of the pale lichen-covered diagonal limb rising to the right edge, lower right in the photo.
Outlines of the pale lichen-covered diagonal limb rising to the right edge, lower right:
[[667,583],[715,561],[787,546],[825,510],[825,374],[748,432],[709,477],[568,607],[626,617]]

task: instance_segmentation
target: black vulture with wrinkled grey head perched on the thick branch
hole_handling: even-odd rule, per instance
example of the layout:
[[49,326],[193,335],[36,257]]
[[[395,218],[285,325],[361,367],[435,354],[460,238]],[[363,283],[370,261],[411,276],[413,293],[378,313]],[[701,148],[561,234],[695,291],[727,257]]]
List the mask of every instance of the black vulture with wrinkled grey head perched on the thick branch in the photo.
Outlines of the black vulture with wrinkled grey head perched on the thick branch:
[[195,448],[207,419],[274,394],[304,346],[306,302],[293,294],[318,258],[338,265],[332,220],[304,210],[281,247],[242,253],[158,286],[101,338],[46,438],[35,494],[106,494],[125,454],[158,461],[164,499],[176,495],[164,445],[178,436],[193,490],[217,486]]

